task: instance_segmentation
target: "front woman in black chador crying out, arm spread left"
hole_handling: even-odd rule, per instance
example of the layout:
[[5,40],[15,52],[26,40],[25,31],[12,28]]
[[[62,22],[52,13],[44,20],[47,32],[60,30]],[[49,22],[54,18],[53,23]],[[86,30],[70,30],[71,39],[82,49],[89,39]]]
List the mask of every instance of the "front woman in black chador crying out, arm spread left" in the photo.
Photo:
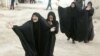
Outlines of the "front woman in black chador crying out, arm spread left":
[[31,20],[12,29],[19,36],[25,56],[47,56],[50,27],[39,13],[33,13]]

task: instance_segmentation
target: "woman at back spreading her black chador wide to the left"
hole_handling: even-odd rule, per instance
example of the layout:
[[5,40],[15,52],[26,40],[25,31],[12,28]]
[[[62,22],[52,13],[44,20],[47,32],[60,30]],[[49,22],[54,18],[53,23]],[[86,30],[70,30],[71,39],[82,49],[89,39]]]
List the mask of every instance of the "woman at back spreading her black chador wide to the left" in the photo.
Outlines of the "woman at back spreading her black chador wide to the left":
[[77,8],[75,2],[72,2],[71,6],[67,8],[58,7],[58,13],[60,17],[61,32],[65,33],[68,40],[72,38],[72,43],[75,43],[76,38],[76,16]]

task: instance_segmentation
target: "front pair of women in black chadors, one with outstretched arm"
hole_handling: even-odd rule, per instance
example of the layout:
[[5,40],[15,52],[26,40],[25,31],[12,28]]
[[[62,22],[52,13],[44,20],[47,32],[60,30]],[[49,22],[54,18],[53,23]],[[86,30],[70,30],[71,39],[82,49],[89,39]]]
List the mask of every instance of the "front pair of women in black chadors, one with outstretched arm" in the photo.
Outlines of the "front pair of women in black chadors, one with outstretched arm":
[[58,21],[52,11],[48,13],[46,20],[35,12],[31,20],[22,26],[10,24],[10,28],[21,41],[25,56],[53,56],[58,27]]

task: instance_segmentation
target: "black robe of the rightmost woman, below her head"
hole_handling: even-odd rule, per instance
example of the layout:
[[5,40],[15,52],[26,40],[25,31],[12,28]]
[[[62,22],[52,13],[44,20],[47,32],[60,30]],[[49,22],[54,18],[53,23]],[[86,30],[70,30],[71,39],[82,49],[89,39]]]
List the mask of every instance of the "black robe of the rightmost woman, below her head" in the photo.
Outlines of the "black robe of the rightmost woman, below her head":
[[92,20],[92,16],[94,14],[94,8],[92,8],[91,10],[86,10],[86,12],[88,13],[88,41],[93,40],[94,38],[94,26],[93,26],[93,20]]

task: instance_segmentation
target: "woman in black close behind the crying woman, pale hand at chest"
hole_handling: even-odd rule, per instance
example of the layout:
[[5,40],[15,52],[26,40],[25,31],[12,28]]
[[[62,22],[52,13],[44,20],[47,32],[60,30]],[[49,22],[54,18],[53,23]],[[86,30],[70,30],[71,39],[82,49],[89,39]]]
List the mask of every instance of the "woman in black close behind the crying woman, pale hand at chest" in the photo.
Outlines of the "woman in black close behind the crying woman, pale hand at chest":
[[47,22],[50,25],[50,39],[49,39],[49,56],[53,56],[56,34],[58,33],[58,21],[54,12],[49,12],[47,16]]

